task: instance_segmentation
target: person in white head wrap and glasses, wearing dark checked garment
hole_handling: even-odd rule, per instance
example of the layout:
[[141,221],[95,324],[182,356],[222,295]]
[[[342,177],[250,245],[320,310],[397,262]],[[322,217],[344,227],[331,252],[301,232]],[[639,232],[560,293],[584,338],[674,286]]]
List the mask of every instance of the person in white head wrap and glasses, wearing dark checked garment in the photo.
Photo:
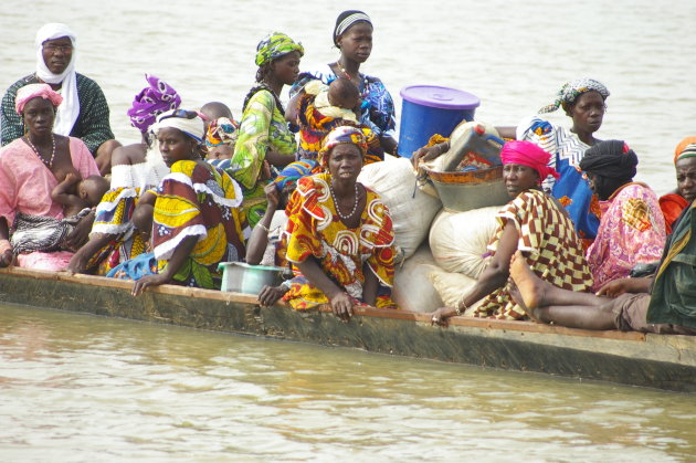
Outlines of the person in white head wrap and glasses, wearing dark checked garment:
[[2,98],[0,125],[2,146],[24,135],[23,120],[14,113],[17,91],[29,84],[46,83],[59,92],[54,131],[80,138],[96,158],[103,173],[109,171],[110,152],[119,146],[114,140],[108,105],[102,88],[93,80],[75,72],[77,40],[65,24],[49,23],[36,32],[36,71],[17,81]]

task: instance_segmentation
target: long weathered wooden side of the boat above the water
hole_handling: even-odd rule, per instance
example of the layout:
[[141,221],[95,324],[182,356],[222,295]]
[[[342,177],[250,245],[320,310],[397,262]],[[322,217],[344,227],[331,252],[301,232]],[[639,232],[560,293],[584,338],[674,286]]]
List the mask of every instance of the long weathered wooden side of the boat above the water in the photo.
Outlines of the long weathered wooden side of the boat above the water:
[[589,332],[530,322],[358,308],[350,323],[327,307],[260,307],[255,296],[164,285],[133,297],[133,282],[91,275],[0,270],[0,302],[131,318],[324,346],[571,378],[696,391],[696,337]]

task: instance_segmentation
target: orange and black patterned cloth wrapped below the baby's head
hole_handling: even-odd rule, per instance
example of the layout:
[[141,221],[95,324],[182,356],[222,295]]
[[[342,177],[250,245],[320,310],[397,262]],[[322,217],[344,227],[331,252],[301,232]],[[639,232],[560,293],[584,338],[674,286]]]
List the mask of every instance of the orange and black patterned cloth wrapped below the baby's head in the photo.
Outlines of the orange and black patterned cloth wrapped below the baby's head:
[[362,130],[362,135],[367,143],[367,152],[365,155],[365,164],[378,162],[384,160],[384,150],[382,149],[379,137],[366,125],[356,125],[345,119],[325,116],[315,106],[315,96],[303,94],[298,102],[297,123],[299,125],[299,149],[297,157],[299,159],[317,159],[321,149],[324,138],[335,128],[340,126],[352,126]]

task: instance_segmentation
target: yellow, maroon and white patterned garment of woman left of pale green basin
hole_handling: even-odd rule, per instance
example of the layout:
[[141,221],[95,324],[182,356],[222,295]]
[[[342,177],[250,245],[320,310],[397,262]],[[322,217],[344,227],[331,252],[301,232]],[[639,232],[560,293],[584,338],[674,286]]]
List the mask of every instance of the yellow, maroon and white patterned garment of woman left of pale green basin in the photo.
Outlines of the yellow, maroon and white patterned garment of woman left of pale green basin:
[[177,246],[189,236],[198,242],[176,283],[220,288],[218,264],[241,261],[245,255],[241,210],[242,192],[234,180],[214,167],[192,160],[171,166],[171,173],[157,188],[152,215],[152,252],[162,272]]

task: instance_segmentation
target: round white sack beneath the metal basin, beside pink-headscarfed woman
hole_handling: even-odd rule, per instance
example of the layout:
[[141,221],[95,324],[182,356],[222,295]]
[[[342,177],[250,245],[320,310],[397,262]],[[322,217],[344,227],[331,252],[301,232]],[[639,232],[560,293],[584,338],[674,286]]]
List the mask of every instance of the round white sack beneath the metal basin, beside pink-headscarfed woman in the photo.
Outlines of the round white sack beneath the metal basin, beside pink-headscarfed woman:
[[484,254],[497,228],[499,206],[466,212],[443,210],[430,228],[430,249],[439,266],[472,278],[486,266]]

